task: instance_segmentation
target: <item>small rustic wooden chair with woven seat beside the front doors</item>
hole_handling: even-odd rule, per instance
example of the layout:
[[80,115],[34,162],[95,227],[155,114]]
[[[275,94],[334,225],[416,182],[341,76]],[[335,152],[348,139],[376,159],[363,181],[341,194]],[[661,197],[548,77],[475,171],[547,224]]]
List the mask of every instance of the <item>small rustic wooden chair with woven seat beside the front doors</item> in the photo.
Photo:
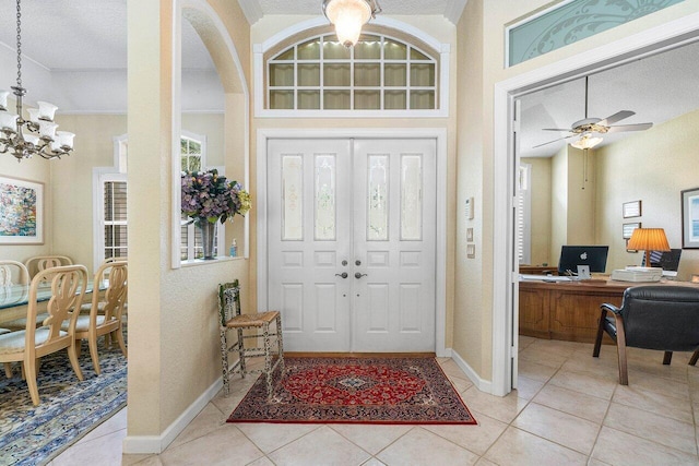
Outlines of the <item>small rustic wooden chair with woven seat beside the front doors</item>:
[[[230,391],[228,379],[230,374],[240,373],[245,379],[246,374],[262,372],[266,378],[268,396],[272,393],[272,374],[277,367],[284,371],[284,344],[282,340],[282,316],[279,311],[258,312],[244,314],[240,309],[240,286],[238,280],[218,285],[218,313],[221,331],[221,360],[223,365],[223,390],[228,396]],[[270,325],[276,325],[276,333],[270,333]],[[228,342],[229,331],[235,330],[237,339],[230,344]],[[254,331],[250,334],[249,331]],[[248,334],[246,334],[248,332]],[[260,334],[260,332],[262,332]],[[246,339],[262,338],[262,346],[259,343],[253,347],[246,347]],[[272,339],[276,339],[276,353],[272,351]],[[228,355],[238,354],[238,360],[230,366]],[[276,356],[276,360],[275,359]],[[261,370],[249,370],[247,358],[264,357],[264,368]]]

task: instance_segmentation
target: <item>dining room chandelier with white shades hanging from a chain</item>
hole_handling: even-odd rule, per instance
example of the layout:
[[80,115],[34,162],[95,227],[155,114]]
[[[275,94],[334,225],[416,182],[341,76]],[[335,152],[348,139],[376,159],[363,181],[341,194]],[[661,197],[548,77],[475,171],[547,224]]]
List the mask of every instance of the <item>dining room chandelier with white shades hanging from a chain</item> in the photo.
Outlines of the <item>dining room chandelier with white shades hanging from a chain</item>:
[[9,152],[17,162],[38,155],[43,158],[60,158],[73,150],[75,134],[56,131],[54,115],[58,107],[47,101],[37,101],[38,108],[27,108],[28,120],[24,119],[22,98],[26,89],[22,87],[22,11],[17,0],[17,83],[12,86],[15,96],[16,115],[8,111],[9,91],[0,89],[0,154]]

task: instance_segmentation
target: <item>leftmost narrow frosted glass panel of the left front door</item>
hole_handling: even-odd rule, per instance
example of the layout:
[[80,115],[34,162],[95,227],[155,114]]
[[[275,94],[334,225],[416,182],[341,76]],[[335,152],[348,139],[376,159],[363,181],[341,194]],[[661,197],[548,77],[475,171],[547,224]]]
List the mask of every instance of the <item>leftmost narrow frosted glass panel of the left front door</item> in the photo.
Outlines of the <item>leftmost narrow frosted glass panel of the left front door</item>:
[[304,239],[304,159],[282,157],[282,240]]

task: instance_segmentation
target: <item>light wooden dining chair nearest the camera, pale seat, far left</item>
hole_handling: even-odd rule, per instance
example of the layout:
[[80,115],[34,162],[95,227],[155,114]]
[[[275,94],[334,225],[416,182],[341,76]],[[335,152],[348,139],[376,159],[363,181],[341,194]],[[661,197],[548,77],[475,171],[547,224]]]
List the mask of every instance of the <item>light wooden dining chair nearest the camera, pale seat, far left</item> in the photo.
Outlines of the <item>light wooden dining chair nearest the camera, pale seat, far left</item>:
[[[46,280],[51,286],[51,298],[47,304],[49,316],[37,328],[34,325],[37,313],[37,289],[39,284]],[[87,268],[83,265],[50,267],[36,274],[29,285],[26,328],[0,335],[0,362],[22,362],[32,403],[35,406],[40,402],[36,384],[39,358],[67,349],[70,365],[78,380],[83,380],[73,334],[86,286]],[[64,323],[68,328],[66,331],[61,330]]]

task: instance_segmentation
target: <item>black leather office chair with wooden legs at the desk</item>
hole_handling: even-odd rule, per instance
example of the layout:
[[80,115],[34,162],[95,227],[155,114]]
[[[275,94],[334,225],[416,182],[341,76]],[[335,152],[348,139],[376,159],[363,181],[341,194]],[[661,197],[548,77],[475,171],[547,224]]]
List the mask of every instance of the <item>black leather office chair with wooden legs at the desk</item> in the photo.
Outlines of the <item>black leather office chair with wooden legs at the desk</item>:
[[689,363],[699,359],[699,288],[690,286],[637,286],[624,291],[621,307],[600,307],[600,326],[593,357],[600,356],[606,332],[616,342],[619,383],[628,385],[626,347],[665,351],[670,365],[673,351],[695,351]]

